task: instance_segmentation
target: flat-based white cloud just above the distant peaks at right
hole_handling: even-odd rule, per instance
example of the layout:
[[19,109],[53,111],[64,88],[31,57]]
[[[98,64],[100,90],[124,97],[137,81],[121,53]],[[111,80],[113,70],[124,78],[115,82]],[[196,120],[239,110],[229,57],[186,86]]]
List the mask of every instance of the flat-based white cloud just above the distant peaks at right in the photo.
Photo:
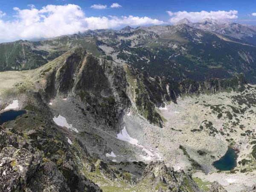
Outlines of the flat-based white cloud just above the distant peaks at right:
[[177,23],[179,20],[183,18],[187,18],[191,20],[192,22],[198,22],[204,18],[210,18],[215,20],[232,20],[236,19],[238,16],[238,11],[236,10],[230,10],[230,11],[201,11],[201,12],[186,12],[186,11],[180,11],[180,12],[170,12],[167,11],[169,16],[171,17],[169,19],[170,23]]

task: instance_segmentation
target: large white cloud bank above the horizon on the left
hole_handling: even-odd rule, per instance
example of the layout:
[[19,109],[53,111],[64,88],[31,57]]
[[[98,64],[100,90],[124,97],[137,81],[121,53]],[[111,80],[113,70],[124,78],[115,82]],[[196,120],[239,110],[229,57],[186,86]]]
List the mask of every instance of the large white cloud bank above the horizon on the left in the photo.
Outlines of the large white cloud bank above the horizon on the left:
[[17,7],[13,9],[15,10],[14,20],[5,21],[0,19],[0,42],[17,39],[52,38],[84,32],[87,29],[164,23],[150,17],[132,15],[86,17],[81,7],[74,4],[64,6],[47,5],[42,9],[19,9]]

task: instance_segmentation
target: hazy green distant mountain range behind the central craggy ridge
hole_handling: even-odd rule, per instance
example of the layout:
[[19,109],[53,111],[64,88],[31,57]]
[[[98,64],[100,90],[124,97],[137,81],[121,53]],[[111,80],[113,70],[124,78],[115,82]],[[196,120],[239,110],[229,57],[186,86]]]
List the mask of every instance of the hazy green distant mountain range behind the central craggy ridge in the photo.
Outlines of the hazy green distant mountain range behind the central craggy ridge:
[[100,29],[43,41],[0,44],[0,70],[28,70],[64,52],[84,47],[87,52],[119,64],[130,64],[150,75],[182,81],[231,78],[244,73],[256,83],[256,27],[184,18],[172,26],[121,30]]

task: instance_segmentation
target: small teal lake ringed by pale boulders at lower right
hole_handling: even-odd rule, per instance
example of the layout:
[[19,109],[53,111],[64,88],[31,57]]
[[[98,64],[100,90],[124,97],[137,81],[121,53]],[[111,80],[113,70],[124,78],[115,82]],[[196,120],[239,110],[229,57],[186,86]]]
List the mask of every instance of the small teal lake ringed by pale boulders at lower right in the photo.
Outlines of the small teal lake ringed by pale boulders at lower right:
[[236,167],[236,158],[237,154],[235,149],[229,147],[223,157],[213,162],[213,166],[221,171],[230,171]]

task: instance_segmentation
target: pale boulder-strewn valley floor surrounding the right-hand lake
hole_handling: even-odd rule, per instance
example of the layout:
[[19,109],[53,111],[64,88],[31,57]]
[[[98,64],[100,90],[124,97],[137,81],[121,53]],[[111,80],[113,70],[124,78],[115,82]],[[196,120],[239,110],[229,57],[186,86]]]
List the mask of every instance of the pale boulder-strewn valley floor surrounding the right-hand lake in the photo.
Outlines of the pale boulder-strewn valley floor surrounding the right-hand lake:
[[[126,117],[126,127],[141,143],[156,148],[168,166],[194,169],[193,177],[202,182],[217,180],[230,192],[245,190],[256,180],[251,143],[255,140],[256,107],[251,100],[255,93],[255,86],[249,85],[242,93],[184,96],[177,104],[159,109],[163,128],[148,125],[138,116]],[[237,166],[233,172],[218,171],[212,163],[226,153],[228,146],[238,152]],[[243,160],[248,163],[242,165]],[[198,164],[202,171],[195,170]]]

